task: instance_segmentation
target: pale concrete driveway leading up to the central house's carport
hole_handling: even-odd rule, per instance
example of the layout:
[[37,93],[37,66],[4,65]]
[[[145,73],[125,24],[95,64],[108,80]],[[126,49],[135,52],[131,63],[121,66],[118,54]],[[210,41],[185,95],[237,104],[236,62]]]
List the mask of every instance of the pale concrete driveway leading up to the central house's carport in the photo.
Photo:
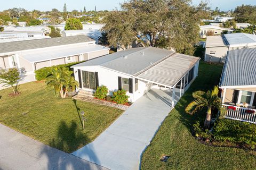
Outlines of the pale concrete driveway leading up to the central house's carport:
[[150,90],[73,155],[112,170],[139,169],[143,150],[171,111],[171,96],[170,91]]

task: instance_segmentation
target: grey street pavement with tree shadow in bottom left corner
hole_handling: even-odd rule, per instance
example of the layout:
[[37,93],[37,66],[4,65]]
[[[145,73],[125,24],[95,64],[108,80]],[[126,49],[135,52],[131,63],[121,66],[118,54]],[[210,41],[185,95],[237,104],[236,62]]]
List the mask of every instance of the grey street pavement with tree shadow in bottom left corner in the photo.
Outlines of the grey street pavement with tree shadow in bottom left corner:
[[0,124],[0,169],[107,169]]

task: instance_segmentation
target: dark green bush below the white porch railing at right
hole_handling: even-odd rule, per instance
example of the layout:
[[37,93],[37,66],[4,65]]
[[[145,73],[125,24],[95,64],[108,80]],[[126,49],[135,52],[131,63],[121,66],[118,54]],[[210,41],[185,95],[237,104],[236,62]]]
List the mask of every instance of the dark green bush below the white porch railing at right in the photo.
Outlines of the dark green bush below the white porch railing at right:
[[214,124],[215,140],[256,145],[256,125],[228,119],[217,120]]

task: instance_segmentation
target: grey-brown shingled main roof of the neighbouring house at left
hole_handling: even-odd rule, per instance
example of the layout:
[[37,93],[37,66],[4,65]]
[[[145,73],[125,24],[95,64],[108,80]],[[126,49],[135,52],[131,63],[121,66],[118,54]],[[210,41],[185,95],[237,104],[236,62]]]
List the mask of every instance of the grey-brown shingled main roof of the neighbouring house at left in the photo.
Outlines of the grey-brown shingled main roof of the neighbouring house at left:
[[17,51],[28,50],[28,49],[37,49],[37,48],[85,43],[90,41],[94,41],[94,40],[87,36],[79,35],[79,36],[70,36],[70,37],[46,38],[46,39],[35,39],[35,40],[1,43],[0,54],[17,52]]

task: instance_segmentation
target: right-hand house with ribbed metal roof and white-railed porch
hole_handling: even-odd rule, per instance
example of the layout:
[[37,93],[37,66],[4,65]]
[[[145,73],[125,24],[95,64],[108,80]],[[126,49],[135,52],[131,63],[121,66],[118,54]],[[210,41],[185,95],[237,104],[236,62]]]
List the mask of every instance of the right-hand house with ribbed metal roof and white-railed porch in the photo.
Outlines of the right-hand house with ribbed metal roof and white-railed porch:
[[256,48],[228,52],[219,88],[226,118],[256,124]]

